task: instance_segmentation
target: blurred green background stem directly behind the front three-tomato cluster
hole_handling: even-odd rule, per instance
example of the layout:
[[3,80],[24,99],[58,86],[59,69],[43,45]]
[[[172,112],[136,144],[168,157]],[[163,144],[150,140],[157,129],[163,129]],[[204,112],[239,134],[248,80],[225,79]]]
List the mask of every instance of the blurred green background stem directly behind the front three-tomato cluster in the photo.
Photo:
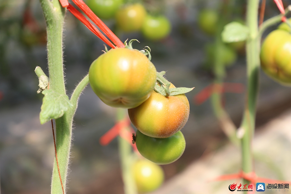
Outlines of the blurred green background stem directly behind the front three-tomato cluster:
[[[125,109],[117,109],[117,120],[125,118]],[[126,129],[125,129],[126,130]],[[136,194],[137,188],[132,173],[133,154],[131,145],[121,137],[118,137],[119,157],[122,170],[122,179],[125,194]]]

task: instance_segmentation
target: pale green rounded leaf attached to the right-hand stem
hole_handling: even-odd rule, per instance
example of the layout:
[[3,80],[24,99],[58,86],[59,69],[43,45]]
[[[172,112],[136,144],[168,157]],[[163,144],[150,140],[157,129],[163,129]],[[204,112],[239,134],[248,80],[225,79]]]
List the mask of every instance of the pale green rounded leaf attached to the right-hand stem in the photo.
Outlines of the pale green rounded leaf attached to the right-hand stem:
[[249,36],[249,28],[239,22],[230,22],[221,33],[223,42],[244,41]]

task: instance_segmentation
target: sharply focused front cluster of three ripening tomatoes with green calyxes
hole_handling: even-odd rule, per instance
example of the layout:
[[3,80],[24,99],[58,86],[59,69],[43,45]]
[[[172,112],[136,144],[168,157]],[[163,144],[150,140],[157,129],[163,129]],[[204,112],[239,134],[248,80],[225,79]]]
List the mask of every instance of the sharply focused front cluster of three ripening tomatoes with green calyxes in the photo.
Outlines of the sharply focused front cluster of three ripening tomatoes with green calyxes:
[[138,129],[136,147],[143,157],[157,164],[172,163],[185,149],[180,130],[189,117],[188,99],[183,88],[179,91],[164,78],[168,89],[163,90],[176,93],[158,93],[160,73],[143,52],[132,49],[131,42],[126,48],[107,51],[91,64],[90,85],[105,104],[128,108],[129,118]]

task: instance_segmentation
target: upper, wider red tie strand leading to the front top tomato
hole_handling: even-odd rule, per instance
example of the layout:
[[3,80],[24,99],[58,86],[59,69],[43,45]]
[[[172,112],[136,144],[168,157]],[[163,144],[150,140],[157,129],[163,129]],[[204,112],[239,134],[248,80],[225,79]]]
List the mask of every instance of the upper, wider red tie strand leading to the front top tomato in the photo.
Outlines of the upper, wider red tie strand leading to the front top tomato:
[[124,48],[125,45],[119,38],[97,17],[93,11],[82,0],[72,0],[100,29],[107,37],[119,48]]

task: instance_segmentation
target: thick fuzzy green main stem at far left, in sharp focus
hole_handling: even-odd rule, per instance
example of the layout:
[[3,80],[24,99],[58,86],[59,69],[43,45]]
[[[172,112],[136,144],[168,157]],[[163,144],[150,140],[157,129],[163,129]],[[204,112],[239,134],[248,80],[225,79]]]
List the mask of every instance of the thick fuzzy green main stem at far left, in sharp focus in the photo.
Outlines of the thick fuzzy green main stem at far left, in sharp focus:
[[[65,8],[58,0],[40,0],[40,4],[47,24],[47,60],[49,67],[49,89],[65,95],[63,74],[63,23]],[[56,122],[56,149],[63,186],[66,188],[68,163],[70,156],[72,122],[76,110],[69,109]],[[54,160],[51,193],[63,193],[58,175],[56,159]]]

